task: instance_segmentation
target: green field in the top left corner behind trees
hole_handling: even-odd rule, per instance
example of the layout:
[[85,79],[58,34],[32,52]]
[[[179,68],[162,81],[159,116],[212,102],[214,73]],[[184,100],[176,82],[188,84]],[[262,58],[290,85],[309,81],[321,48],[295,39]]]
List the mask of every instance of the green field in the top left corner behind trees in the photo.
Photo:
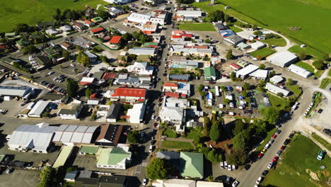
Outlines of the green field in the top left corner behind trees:
[[57,8],[82,10],[85,5],[96,8],[97,4],[108,4],[103,0],[12,0],[0,1],[0,32],[11,31],[17,23],[28,23],[35,26],[39,21],[53,21],[52,15]]

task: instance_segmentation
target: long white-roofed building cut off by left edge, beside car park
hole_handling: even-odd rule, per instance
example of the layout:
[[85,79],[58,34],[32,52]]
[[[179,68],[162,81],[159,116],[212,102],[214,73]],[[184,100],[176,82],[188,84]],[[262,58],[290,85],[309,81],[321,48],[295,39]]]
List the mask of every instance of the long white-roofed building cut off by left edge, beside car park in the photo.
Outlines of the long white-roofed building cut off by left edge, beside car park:
[[33,89],[28,86],[0,86],[0,97],[4,97],[5,101],[13,97],[27,99],[32,93]]

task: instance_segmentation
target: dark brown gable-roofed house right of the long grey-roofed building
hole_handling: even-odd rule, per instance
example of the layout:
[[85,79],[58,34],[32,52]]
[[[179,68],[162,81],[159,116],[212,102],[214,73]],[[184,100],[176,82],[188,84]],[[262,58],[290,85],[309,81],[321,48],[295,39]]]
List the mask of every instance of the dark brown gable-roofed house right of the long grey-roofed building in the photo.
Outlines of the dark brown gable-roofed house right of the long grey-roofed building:
[[95,145],[117,147],[117,144],[122,135],[122,130],[123,125],[100,125],[100,134],[95,140]]

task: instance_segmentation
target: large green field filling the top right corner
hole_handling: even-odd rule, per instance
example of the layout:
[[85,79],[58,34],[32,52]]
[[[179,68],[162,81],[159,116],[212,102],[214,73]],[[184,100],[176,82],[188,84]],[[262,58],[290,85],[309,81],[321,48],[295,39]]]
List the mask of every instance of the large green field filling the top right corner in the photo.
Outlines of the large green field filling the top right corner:
[[[222,10],[245,22],[280,31],[319,51],[331,51],[331,38],[326,37],[331,30],[330,19],[327,19],[331,8],[329,0],[216,0],[215,3],[215,6],[208,6],[210,1],[193,5],[204,11]],[[224,6],[231,8],[224,10]]]

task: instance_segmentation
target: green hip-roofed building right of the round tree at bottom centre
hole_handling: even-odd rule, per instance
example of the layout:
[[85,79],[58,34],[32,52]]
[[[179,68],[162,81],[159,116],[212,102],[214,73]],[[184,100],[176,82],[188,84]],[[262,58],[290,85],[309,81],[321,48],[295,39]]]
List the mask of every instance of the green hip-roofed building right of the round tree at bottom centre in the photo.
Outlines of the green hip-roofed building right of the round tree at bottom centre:
[[180,152],[180,175],[204,178],[204,154]]

